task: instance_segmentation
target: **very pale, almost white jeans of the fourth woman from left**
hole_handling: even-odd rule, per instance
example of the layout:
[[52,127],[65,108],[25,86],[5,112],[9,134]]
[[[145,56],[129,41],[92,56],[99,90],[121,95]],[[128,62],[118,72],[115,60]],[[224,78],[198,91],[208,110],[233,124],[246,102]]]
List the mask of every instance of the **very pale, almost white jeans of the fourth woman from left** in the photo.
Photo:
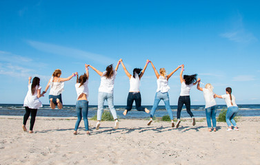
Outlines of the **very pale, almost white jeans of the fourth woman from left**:
[[109,93],[101,92],[101,91],[99,91],[99,98],[98,98],[97,120],[101,120],[101,116],[103,113],[103,105],[104,105],[105,100],[107,100],[110,112],[112,113],[114,120],[116,120],[117,111],[116,111],[116,109],[114,109],[113,94],[109,94]]

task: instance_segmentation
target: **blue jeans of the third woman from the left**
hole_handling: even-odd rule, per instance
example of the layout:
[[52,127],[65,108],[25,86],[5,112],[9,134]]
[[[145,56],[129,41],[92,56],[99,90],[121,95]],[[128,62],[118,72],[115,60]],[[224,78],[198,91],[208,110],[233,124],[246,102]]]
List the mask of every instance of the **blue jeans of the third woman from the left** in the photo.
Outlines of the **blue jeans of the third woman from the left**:
[[77,111],[78,120],[75,124],[74,131],[77,131],[77,129],[79,128],[79,123],[81,122],[82,115],[83,115],[83,120],[84,120],[86,131],[88,131],[88,101],[87,100],[77,100],[76,111]]

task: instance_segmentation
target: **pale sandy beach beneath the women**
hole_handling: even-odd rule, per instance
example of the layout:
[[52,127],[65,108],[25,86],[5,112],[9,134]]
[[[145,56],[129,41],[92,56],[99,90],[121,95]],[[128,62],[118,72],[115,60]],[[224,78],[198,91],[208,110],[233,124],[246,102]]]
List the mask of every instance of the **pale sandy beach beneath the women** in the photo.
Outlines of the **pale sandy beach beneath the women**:
[[[260,164],[260,117],[241,117],[239,131],[208,132],[206,119],[183,120],[179,129],[170,122],[83,120],[73,135],[76,118],[37,117],[34,133],[23,132],[22,116],[0,116],[0,164]],[[30,120],[28,120],[27,129]]]

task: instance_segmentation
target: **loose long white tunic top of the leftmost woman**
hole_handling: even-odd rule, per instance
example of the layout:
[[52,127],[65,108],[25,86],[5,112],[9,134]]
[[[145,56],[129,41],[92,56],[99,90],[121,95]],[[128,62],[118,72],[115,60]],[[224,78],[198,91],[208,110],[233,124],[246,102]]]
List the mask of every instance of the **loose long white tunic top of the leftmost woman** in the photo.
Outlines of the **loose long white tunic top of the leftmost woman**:
[[43,107],[41,104],[41,101],[37,97],[37,90],[41,89],[41,86],[36,86],[34,94],[32,95],[32,83],[28,85],[28,92],[26,94],[26,98],[24,99],[23,102],[23,107],[29,107],[30,109],[39,109],[39,107]]

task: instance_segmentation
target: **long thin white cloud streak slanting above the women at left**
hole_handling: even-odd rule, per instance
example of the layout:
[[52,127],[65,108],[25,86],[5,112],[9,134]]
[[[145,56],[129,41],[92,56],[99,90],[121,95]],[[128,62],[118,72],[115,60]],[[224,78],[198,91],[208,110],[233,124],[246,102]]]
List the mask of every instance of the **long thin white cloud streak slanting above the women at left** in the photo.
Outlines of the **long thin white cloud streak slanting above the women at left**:
[[90,52],[85,52],[83,50],[77,50],[70,47],[63,47],[60,45],[54,45],[50,43],[41,43],[38,41],[27,41],[27,43],[34,47],[37,50],[41,50],[43,52],[48,52],[51,54],[58,54],[61,56],[69,56],[73,58],[80,58],[84,59],[86,63],[88,61],[96,61],[98,63],[102,63],[104,65],[107,65],[108,63],[117,63],[117,60],[114,60],[112,58],[108,58],[106,56],[100,55],[100,54],[94,54]]

